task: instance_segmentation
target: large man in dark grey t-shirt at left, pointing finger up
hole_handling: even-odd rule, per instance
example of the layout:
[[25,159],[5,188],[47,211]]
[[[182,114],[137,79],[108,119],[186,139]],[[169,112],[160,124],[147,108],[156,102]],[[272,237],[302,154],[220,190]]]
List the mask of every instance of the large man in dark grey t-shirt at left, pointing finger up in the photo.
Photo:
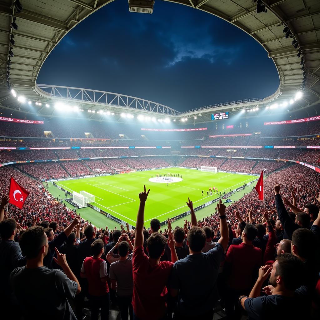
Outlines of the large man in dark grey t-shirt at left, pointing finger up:
[[[78,220],[76,220],[78,222]],[[25,319],[74,319],[67,298],[73,299],[81,291],[76,276],[68,266],[66,256],[55,248],[57,259],[63,272],[44,266],[44,257],[48,253],[48,238],[42,227],[31,227],[20,236],[20,247],[26,255],[27,265],[12,271],[10,282]],[[45,291],[44,291],[45,287]],[[50,296],[44,300],[45,294]],[[35,312],[36,303],[36,312]]]

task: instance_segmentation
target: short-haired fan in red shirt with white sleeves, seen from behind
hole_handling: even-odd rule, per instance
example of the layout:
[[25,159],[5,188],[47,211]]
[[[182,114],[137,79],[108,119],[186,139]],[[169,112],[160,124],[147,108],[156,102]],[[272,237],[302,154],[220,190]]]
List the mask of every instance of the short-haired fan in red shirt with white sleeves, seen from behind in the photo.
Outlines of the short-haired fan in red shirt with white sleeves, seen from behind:
[[94,240],[91,244],[91,257],[84,259],[81,267],[81,278],[88,280],[89,302],[91,305],[91,319],[98,320],[101,308],[101,320],[109,319],[109,287],[107,263],[101,259],[104,243],[101,239]]

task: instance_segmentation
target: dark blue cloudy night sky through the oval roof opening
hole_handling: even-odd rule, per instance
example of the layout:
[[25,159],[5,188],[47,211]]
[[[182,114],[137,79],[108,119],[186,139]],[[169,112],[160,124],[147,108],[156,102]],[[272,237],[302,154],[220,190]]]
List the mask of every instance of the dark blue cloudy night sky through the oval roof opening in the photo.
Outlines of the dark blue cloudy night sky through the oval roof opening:
[[116,0],[60,41],[37,83],[127,94],[186,111],[267,97],[279,76],[260,44],[220,18],[166,1],[156,1],[153,14],[134,13],[127,0]]

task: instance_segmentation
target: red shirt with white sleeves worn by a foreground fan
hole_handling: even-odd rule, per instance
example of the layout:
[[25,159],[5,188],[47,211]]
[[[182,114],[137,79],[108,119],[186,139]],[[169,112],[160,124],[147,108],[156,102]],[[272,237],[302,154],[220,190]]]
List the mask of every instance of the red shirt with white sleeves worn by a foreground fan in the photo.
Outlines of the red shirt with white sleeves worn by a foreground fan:
[[87,257],[84,259],[81,272],[88,280],[88,291],[92,296],[103,296],[109,292],[108,283],[101,278],[108,276],[107,263],[101,258]]

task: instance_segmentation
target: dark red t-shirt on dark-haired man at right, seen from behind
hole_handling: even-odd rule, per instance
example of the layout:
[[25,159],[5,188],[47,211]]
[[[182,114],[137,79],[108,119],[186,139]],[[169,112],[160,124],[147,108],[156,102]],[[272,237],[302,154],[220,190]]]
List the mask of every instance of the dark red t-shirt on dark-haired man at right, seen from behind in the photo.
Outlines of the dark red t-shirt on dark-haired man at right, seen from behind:
[[255,271],[262,265],[262,251],[250,244],[231,244],[225,263],[231,263],[228,286],[235,290],[251,289]]

